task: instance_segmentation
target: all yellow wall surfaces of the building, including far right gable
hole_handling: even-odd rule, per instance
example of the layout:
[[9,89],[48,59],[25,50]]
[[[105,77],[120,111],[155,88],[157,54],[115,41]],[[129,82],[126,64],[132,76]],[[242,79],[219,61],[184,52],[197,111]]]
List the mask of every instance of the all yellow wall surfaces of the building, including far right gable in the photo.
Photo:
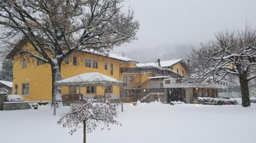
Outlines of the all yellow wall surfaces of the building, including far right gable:
[[[33,49],[30,43],[23,46],[23,49]],[[76,57],[77,65],[73,64],[73,58]],[[27,66],[23,67],[23,60],[27,59]],[[86,59],[91,61],[97,61],[97,68],[87,67]],[[18,95],[23,95],[26,101],[51,101],[52,100],[52,77],[51,77],[51,66],[49,64],[37,65],[37,60],[35,58],[15,55],[13,64],[13,93]],[[124,87],[137,87],[140,83],[147,80],[148,77],[156,76],[154,73],[121,73],[120,67],[136,67],[136,62],[127,62],[122,60],[117,60],[109,58],[106,56],[88,53],[88,52],[73,52],[69,55],[69,63],[64,60],[61,64],[61,78],[66,79],[75,75],[90,72],[99,72],[101,74],[113,77],[123,81],[124,76],[126,77],[126,84]],[[107,64],[107,69],[105,69],[105,64]],[[111,64],[113,64],[113,75],[111,74]],[[173,65],[173,70],[182,75],[186,75],[186,71],[181,64],[177,63]],[[130,81],[133,79],[132,81]],[[26,83],[29,83],[29,93],[26,95],[22,93],[22,88]],[[17,85],[17,90],[15,89]],[[148,83],[142,85],[141,88],[148,88]],[[108,95],[119,97],[120,87],[115,85],[113,87],[113,93]],[[17,91],[17,93],[15,93]],[[69,94],[69,87],[62,87],[61,93]],[[96,93],[87,93],[86,87],[81,89],[76,89],[76,93],[83,94],[85,96],[92,95],[104,95],[103,87],[96,87]]]

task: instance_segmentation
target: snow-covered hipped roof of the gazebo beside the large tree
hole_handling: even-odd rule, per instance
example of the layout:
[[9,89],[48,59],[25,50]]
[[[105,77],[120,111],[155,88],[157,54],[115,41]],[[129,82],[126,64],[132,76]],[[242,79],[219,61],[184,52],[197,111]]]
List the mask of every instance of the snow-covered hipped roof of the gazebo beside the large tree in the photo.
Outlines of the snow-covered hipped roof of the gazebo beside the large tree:
[[121,83],[122,81],[115,79],[113,77],[98,73],[98,72],[90,72],[83,73],[76,76],[72,76],[63,80],[56,81],[59,84],[96,84],[96,83],[104,83],[104,82],[114,82]]

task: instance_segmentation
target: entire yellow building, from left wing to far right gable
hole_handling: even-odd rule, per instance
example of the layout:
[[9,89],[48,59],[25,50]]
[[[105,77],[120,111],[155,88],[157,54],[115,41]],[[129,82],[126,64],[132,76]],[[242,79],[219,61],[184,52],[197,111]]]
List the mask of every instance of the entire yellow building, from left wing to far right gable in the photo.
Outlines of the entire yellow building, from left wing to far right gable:
[[[51,66],[35,58],[16,54],[18,49],[33,49],[33,47],[30,43],[24,42],[20,44],[20,47],[14,48],[7,56],[7,59],[12,59],[14,62],[13,94],[22,95],[26,101],[51,101]],[[151,82],[162,81],[164,79],[162,76],[177,78],[182,77],[186,72],[186,68],[180,61],[172,66],[173,69],[182,71],[181,74],[179,74],[179,71],[174,72],[167,68],[159,68],[154,65],[141,66],[138,64],[132,59],[113,53],[103,55],[88,51],[73,52],[61,64],[61,78],[66,79],[83,73],[98,72],[123,81],[123,94],[125,97],[129,97],[127,89],[152,88],[155,84]],[[159,78],[150,78],[154,76]],[[159,86],[161,87],[162,85],[157,85],[157,88]],[[114,85],[106,89],[106,94],[112,98],[119,98],[120,93],[122,93],[121,89],[121,86]],[[103,96],[104,88],[102,86],[85,86],[79,89],[77,87],[62,87],[61,93],[62,95],[82,94],[86,97]]]

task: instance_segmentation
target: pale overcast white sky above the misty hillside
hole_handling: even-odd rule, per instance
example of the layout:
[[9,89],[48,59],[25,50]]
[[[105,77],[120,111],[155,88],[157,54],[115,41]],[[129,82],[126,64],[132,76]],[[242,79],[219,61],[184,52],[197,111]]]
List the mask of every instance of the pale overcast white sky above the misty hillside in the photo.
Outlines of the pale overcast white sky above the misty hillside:
[[[161,45],[198,44],[227,27],[256,26],[256,0],[126,0],[140,21],[139,38],[116,48],[125,52]],[[170,47],[171,48],[171,47]]]

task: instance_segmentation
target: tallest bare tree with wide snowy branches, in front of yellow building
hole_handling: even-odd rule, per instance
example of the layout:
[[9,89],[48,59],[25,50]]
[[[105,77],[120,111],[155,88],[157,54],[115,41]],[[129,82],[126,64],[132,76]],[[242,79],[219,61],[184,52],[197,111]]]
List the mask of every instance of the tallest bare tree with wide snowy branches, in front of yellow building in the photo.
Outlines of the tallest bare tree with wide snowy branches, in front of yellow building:
[[[51,65],[54,96],[61,63],[69,54],[80,50],[109,52],[136,39],[139,22],[134,20],[133,10],[123,12],[122,7],[122,0],[1,0],[1,40],[5,46],[18,40],[32,44],[32,50],[16,52]],[[60,90],[57,86],[57,100],[61,100]]]

